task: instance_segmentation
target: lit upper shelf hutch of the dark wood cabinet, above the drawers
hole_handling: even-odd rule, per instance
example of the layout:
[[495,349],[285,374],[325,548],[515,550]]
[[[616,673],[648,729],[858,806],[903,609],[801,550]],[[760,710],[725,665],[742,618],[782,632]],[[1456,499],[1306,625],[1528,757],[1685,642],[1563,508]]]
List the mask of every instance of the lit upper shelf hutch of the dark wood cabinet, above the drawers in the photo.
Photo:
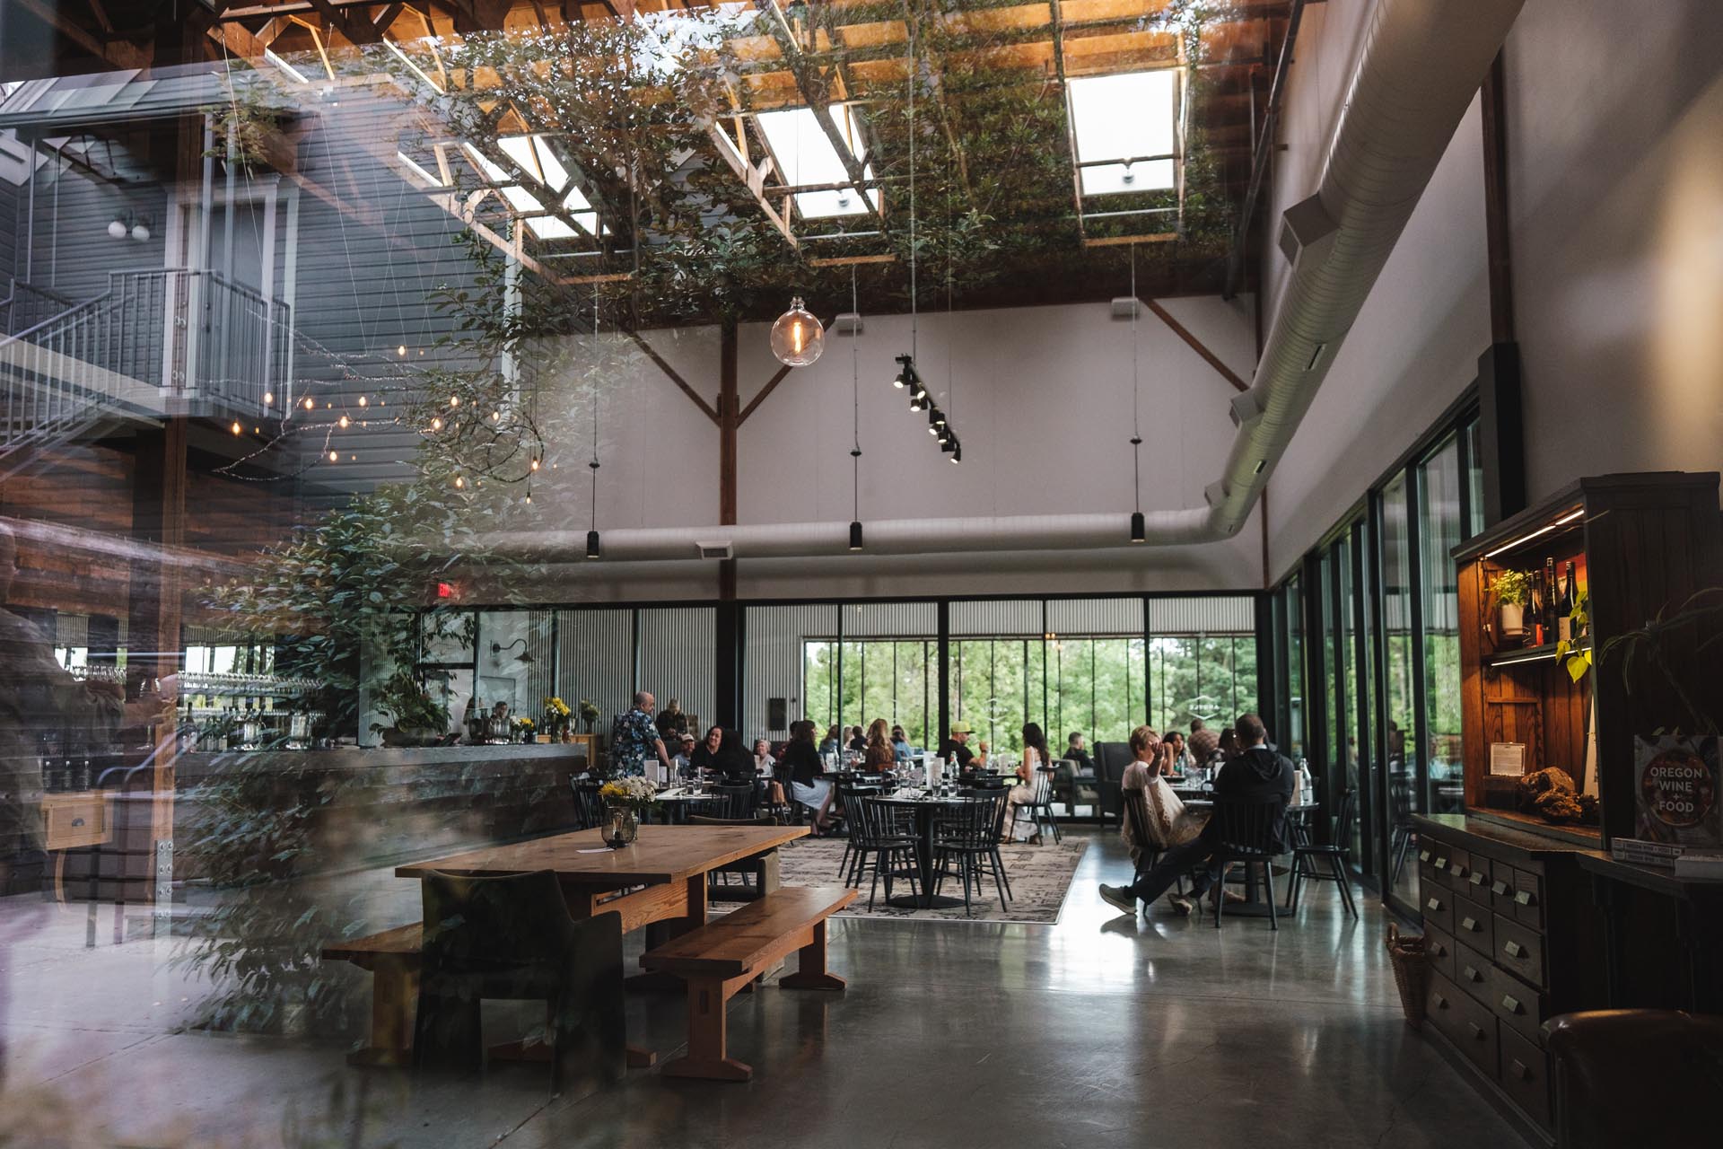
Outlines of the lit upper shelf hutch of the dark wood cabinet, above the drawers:
[[[1723,582],[1718,475],[1658,472],[1580,479],[1539,506],[1454,548],[1459,598],[1461,756],[1466,811],[1566,835],[1589,846],[1633,834],[1633,736],[1692,730],[1692,708],[1723,713],[1723,644],[1675,636],[1661,656],[1685,698],[1649,667],[1602,648],[1695,591]],[[1556,636],[1513,637],[1502,629],[1499,586],[1508,572],[1558,579],[1573,563],[1589,596],[1594,668],[1575,680],[1558,660]],[[1530,622],[1528,622],[1530,625]],[[1640,660],[1644,663],[1647,660]],[[1592,749],[1595,744],[1595,749]],[[1554,825],[1518,810],[1516,773],[1492,770],[1494,746],[1518,746],[1530,773],[1559,767],[1597,799],[1589,823]],[[1504,875],[1496,875],[1504,877]],[[1528,897],[1535,889],[1515,887]],[[1528,922],[1516,908],[1508,916]]]

